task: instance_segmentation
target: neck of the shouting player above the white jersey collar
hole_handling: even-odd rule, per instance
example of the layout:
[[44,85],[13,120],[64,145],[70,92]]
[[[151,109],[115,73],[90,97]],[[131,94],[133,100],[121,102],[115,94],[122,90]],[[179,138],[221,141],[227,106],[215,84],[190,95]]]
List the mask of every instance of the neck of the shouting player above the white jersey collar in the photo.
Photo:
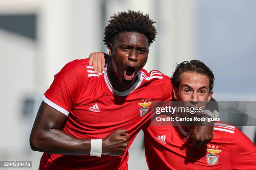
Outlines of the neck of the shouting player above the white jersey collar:
[[112,85],[112,87],[119,92],[123,92],[123,91],[131,88],[134,85],[134,83],[136,82],[136,80],[138,79],[138,75],[136,75],[136,77],[133,80],[131,80],[131,83],[124,84],[123,82],[120,82],[120,80],[118,80],[118,77],[117,77],[115,71],[113,70],[113,65],[112,65],[111,61],[109,62],[108,66],[107,66],[107,76],[108,76],[108,80],[109,80],[110,84]]

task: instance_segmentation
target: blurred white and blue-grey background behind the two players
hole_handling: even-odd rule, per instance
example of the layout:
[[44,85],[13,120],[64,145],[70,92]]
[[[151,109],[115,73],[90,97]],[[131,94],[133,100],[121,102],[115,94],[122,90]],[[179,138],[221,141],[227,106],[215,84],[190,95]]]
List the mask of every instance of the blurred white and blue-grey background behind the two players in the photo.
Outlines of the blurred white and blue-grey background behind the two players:
[[[0,0],[0,160],[32,160],[29,146],[41,96],[69,61],[107,52],[103,30],[128,9],[157,22],[147,70],[171,76],[184,60],[215,74],[216,100],[256,100],[255,0]],[[255,126],[242,127],[255,140]],[[129,169],[147,169],[143,133],[129,149]]]

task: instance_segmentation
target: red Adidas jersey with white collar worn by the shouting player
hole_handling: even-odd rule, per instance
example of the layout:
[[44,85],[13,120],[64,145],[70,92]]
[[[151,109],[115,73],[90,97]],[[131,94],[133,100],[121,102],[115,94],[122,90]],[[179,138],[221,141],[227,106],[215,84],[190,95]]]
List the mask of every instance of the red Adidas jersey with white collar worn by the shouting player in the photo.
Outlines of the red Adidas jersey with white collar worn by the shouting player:
[[[138,72],[136,83],[124,92],[112,88],[105,71],[93,72],[89,59],[69,62],[55,75],[44,102],[67,115],[63,131],[77,138],[105,138],[115,130],[126,129],[131,141],[151,119],[151,103],[172,100],[170,77],[154,70]],[[128,147],[129,147],[128,146]],[[123,170],[128,152],[123,156],[59,155],[44,153],[40,170]]]

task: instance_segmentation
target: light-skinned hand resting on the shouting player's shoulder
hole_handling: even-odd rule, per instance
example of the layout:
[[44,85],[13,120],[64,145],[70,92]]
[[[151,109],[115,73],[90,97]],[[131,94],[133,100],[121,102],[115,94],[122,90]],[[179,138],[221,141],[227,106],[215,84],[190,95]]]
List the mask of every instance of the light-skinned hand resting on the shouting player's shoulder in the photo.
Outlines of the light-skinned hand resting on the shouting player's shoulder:
[[93,70],[98,75],[104,70],[105,58],[109,56],[104,52],[92,52],[89,56],[89,65],[93,65]]

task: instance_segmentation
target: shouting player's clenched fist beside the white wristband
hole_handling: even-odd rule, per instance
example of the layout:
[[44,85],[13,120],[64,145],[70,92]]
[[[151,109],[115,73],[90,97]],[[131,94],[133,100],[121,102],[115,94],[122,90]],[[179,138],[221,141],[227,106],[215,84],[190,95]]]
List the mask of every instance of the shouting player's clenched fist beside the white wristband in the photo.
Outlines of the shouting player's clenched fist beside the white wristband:
[[122,156],[125,153],[130,138],[125,129],[116,130],[102,139],[102,154]]

